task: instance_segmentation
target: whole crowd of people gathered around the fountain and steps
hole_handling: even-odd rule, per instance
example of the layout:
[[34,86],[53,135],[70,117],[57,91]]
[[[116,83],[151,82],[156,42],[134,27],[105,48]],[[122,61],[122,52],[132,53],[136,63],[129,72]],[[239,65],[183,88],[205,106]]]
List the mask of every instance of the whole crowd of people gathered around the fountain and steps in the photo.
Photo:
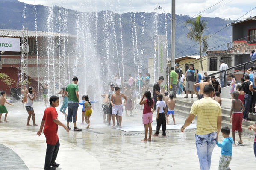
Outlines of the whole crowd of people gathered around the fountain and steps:
[[[224,64],[224,62],[222,63]],[[221,65],[222,65],[221,64]],[[221,84],[216,80],[215,76],[208,76],[205,72],[202,77],[198,70],[194,69],[194,65],[190,64],[189,69],[182,73],[179,69],[179,65],[175,64],[175,68],[171,67],[169,74],[169,82],[172,93],[168,94],[165,90],[165,86],[161,86],[164,81],[164,77],[160,76],[157,82],[150,87],[150,75],[146,73],[145,76],[139,76],[134,79],[129,74],[128,83],[124,83],[119,74],[114,77],[114,83],[109,86],[108,93],[104,93],[101,106],[103,110],[103,123],[112,127],[122,127],[122,115],[123,108],[126,111],[126,115],[133,116],[132,111],[136,106],[137,91],[141,89],[141,100],[139,105],[143,106],[142,123],[144,124],[145,137],[141,141],[151,141],[152,136],[159,136],[159,131],[162,126],[162,135],[166,137],[166,125],[169,124],[169,115],[172,115],[173,124],[175,125],[174,108],[175,99],[177,96],[177,90],[179,94],[185,94],[185,98],[188,98],[189,92],[191,92],[191,98],[193,94],[197,95],[198,99],[191,106],[191,111],[185,123],[181,127],[181,132],[185,132],[185,128],[189,126],[197,116],[197,129],[195,131],[195,143],[197,148],[197,154],[200,162],[201,170],[209,170],[211,166],[212,151],[217,144],[221,147],[221,156],[219,161],[219,170],[228,170],[229,164],[232,160],[232,146],[243,145],[242,141],[242,121],[250,120],[248,115],[250,112],[255,113],[256,108],[256,78],[253,74],[253,70],[256,67],[252,67],[247,70],[247,73],[241,78],[241,85],[236,85],[236,78],[230,74],[230,95],[231,95],[231,110],[230,110],[230,123],[232,123],[232,137],[230,137],[230,129],[223,127],[221,129]],[[203,80],[203,81],[202,81]],[[201,82],[202,81],[202,82]],[[52,170],[59,166],[55,162],[59,149],[59,138],[57,135],[58,125],[62,126],[67,132],[71,130],[70,123],[73,122],[74,131],[82,131],[77,127],[77,110],[79,104],[82,108],[82,123],[87,123],[87,129],[90,128],[90,117],[92,114],[92,103],[97,101],[89,100],[88,95],[82,96],[80,102],[78,93],[78,78],[74,77],[72,82],[65,88],[61,88],[59,94],[63,99],[60,112],[64,114],[66,125],[58,120],[58,114],[56,107],[59,106],[59,97],[53,95],[49,97],[50,107],[47,107],[44,111],[44,116],[41,121],[40,129],[37,135],[41,135],[44,132],[47,143],[47,151],[45,158],[45,169]],[[182,86],[185,82],[185,91]],[[222,81],[221,81],[222,83]],[[235,91],[236,85],[236,91]],[[124,88],[123,88],[124,87]],[[123,89],[122,89],[123,88]],[[48,87],[43,85],[41,91],[43,97],[48,99]],[[22,86],[21,93],[23,94],[22,103],[25,104],[26,111],[28,113],[26,126],[37,126],[35,123],[35,113],[33,109],[33,101],[37,98],[35,89],[26,86]],[[153,95],[151,95],[153,94]],[[0,97],[0,122],[1,116],[5,113],[4,122],[6,120],[8,111],[4,106],[8,101],[5,98],[6,92],[1,92]],[[254,99],[255,98],[255,99]],[[123,102],[124,101],[124,102]],[[46,106],[48,101],[44,100]],[[68,113],[66,109],[68,108]],[[128,114],[128,111],[130,113]],[[156,111],[156,132],[152,135],[153,114]],[[207,111],[207,114],[206,114]],[[33,124],[30,125],[30,118],[32,117]],[[111,125],[112,119],[112,125]],[[256,126],[250,125],[249,130],[253,129],[256,132]],[[221,131],[224,140],[222,143],[218,142],[218,134]],[[238,131],[239,141],[235,143],[235,131]],[[148,136],[149,134],[149,136]],[[256,157],[256,138],[254,142],[254,154]]]

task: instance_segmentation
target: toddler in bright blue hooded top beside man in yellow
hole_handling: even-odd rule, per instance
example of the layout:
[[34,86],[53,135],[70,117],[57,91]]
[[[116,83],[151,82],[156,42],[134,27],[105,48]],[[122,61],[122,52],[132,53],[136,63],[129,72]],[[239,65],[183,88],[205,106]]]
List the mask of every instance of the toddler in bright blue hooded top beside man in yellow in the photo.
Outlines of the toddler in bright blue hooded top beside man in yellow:
[[222,143],[216,142],[218,147],[221,147],[221,156],[218,170],[231,170],[229,164],[232,160],[232,144],[234,141],[233,138],[230,137],[229,127],[223,127],[221,129],[221,133],[224,138]]

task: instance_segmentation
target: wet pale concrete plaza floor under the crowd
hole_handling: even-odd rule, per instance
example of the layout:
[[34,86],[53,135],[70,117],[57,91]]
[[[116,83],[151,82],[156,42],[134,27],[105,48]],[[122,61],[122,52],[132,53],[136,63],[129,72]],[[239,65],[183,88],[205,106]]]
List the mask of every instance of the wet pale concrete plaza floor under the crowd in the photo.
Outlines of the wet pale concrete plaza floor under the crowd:
[[[5,154],[10,153],[9,159],[0,159],[0,170],[29,169],[43,170],[46,151],[45,137],[42,134],[36,136],[41,118],[44,113],[44,103],[35,102],[35,120],[38,126],[27,127],[27,112],[21,103],[15,106],[6,104],[9,111],[7,120],[9,123],[0,123],[0,144]],[[99,103],[100,104],[100,103]],[[61,106],[61,105],[60,105]],[[57,109],[58,119],[65,123],[64,115]],[[100,105],[94,105],[99,108]],[[59,126],[58,135],[60,149],[56,162],[60,164],[58,170],[139,170],[139,169],[162,169],[162,170],[199,170],[199,161],[194,142],[195,129],[186,129],[185,133],[177,130],[167,130],[167,137],[152,137],[152,141],[142,142],[144,132],[124,132],[110,128],[103,124],[103,115],[100,111],[93,110],[91,116],[91,129],[85,129],[86,123],[81,125],[81,110],[79,106],[77,114],[77,127],[82,132],[69,133]],[[140,109],[133,111],[134,117],[124,116],[122,126],[141,126]],[[156,112],[155,112],[156,113]],[[128,113],[129,114],[129,113]],[[156,114],[153,124],[156,124]],[[4,115],[3,115],[4,116]],[[183,124],[186,117],[175,114],[177,124]],[[2,117],[3,120],[3,117]],[[169,117],[172,123],[172,118]],[[30,120],[30,124],[32,120]],[[196,123],[195,121],[193,123]],[[73,128],[73,123],[71,123]],[[154,132],[155,129],[153,129]],[[219,141],[222,141],[221,134]],[[236,141],[238,134],[236,135]],[[230,164],[232,170],[255,169],[256,161],[253,153],[254,136],[243,134],[244,145],[233,147],[233,159]],[[1,150],[0,146],[0,150]],[[11,152],[8,149],[12,149]],[[216,146],[212,153],[212,170],[218,169],[218,161],[221,149]],[[1,157],[6,157],[2,155]],[[18,157],[18,158],[17,158]],[[19,159],[24,165],[15,168],[15,161]]]

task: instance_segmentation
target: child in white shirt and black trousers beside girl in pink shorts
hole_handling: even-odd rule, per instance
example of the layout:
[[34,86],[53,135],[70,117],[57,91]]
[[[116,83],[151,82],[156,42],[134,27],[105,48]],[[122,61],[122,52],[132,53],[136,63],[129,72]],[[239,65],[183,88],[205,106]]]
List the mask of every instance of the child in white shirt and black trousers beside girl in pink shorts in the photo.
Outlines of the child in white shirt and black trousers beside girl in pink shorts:
[[163,131],[163,136],[166,136],[165,131],[166,131],[166,119],[165,119],[165,113],[166,113],[166,104],[162,100],[163,95],[158,94],[157,95],[157,103],[156,103],[156,108],[157,108],[157,115],[156,115],[156,133],[153,136],[158,136],[160,127],[162,126],[162,131]]

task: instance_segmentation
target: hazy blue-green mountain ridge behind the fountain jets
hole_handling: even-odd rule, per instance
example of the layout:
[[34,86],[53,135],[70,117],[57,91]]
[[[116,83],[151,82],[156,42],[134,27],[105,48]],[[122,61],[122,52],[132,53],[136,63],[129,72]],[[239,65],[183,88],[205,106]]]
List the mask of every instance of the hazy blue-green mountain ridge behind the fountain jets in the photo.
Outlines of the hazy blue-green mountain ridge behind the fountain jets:
[[[26,4],[25,8],[24,3],[16,0],[1,0],[0,11],[0,29],[21,29],[24,26],[29,30],[35,30],[36,12],[38,31],[50,30],[54,32],[68,32],[79,36],[81,33],[84,34],[86,32],[85,34],[90,34],[91,44],[95,45],[97,42],[98,54],[106,56],[106,51],[108,50],[113,67],[115,68],[117,68],[115,66],[115,58],[117,57],[116,47],[120,61],[122,57],[121,32],[123,38],[124,67],[127,70],[134,69],[134,59],[137,62],[138,56],[139,69],[147,71],[147,60],[149,57],[154,56],[154,41],[156,41],[156,35],[165,34],[166,29],[168,56],[171,54],[171,21],[165,14],[128,12],[119,15],[111,11],[101,11],[96,15],[96,13],[93,12],[77,12],[59,6],[50,8],[42,5],[34,6]],[[50,17],[52,22],[49,22],[49,13],[51,11],[53,12],[52,17]],[[168,15],[171,16],[171,14]],[[120,29],[120,18],[122,30]],[[199,54],[199,45],[190,48],[197,43],[190,41],[186,37],[188,28],[185,27],[184,21],[189,18],[188,15],[176,15],[176,57],[195,53],[197,53],[197,55]],[[224,28],[226,24],[232,22],[232,20],[224,20],[218,17],[210,18],[203,16],[201,20],[205,20],[208,25],[204,35],[212,35]],[[65,24],[67,26],[66,28]],[[79,32],[77,31],[77,25],[80,26]],[[227,26],[227,28],[208,39],[209,49],[224,44],[212,50],[226,50],[226,44],[232,40],[231,36],[232,27]],[[96,37],[97,40],[95,39]],[[107,39],[108,45],[106,43]],[[136,67],[138,67],[138,65]]]

